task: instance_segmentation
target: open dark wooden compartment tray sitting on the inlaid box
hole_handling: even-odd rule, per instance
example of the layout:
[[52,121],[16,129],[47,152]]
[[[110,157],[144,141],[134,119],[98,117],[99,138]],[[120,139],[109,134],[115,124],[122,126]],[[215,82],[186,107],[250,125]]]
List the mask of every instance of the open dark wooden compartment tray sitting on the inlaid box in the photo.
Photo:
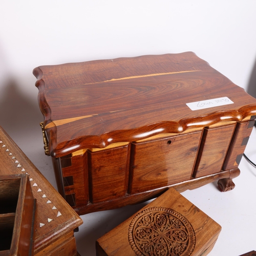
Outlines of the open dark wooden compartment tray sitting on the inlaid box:
[[0,175],[0,255],[33,255],[36,201],[27,175]]

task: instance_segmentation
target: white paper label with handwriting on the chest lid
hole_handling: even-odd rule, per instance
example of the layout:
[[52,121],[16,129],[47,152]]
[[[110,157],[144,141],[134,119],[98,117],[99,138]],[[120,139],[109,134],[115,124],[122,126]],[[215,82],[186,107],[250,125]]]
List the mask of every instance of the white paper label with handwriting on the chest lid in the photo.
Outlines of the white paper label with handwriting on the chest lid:
[[230,100],[228,97],[221,97],[217,99],[208,99],[201,100],[196,102],[186,103],[190,110],[202,110],[208,108],[214,108],[215,106],[223,106],[228,104],[233,104],[234,102]]

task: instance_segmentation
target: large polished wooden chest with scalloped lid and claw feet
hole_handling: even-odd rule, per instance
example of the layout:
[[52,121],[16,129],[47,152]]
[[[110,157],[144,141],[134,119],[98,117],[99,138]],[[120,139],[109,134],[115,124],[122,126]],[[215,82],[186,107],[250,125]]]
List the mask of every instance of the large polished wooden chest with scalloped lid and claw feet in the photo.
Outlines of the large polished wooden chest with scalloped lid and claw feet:
[[[256,99],[192,52],[33,70],[46,154],[78,214],[193,189],[232,189]],[[49,145],[48,145],[49,144]]]

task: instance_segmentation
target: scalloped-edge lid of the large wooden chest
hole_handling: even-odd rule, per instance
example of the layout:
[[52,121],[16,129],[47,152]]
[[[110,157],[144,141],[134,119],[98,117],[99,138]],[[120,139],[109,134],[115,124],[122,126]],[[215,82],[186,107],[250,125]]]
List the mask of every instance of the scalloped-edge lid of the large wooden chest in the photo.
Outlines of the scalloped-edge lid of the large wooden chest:
[[33,74],[54,157],[256,112],[253,97],[192,52],[41,66]]

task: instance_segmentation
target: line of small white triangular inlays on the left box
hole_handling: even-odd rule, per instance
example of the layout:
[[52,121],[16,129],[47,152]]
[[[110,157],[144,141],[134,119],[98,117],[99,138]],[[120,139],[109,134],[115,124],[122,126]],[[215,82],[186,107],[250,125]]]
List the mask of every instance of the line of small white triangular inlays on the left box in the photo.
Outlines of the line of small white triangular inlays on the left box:
[[[24,168],[21,168],[22,167],[22,164],[20,164],[20,162],[15,158],[15,156],[13,156],[13,154],[10,152],[10,150],[9,150],[9,148],[6,146],[6,144],[2,141],[2,140],[0,140],[0,144],[1,144],[1,147],[2,148],[4,148],[4,150],[8,153],[8,155],[11,157],[11,159],[13,159],[13,163],[16,165],[16,167],[18,168],[18,169],[20,169],[20,171],[21,172],[26,172],[26,170],[24,169]],[[3,145],[2,145],[3,144]],[[26,172],[26,174],[29,176],[29,174]],[[32,177],[30,177],[30,181],[33,181],[33,178]],[[38,185],[34,182],[34,183],[32,183],[33,185],[32,185],[32,188],[33,187],[38,187]],[[37,189],[37,188],[36,188]],[[42,192],[42,190],[40,189],[40,188],[38,188],[37,190],[37,193],[40,193],[40,192]],[[44,194],[44,193],[42,193],[43,195],[42,195],[42,198],[47,198],[47,196]],[[52,201],[50,201],[50,200],[47,200],[46,201],[46,204],[52,204]],[[57,210],[57,208],[55,207],[55,205],[51,208],[52,210]],[[61,213],[60,213],[60,211],[58,211],[57,212],[57,214],[55,214],[55,216],[56,217],[59,217],[59,216],[61,216]],[[47,220],[48,220],[48,223],[49,222],[51,222],[51,221],[53,221],[53,219],[50,219],[50,218],[47,218]],[[42,226],[45,226],[46,224],[45,223],[39,223],[39,227],[41,228]]]

